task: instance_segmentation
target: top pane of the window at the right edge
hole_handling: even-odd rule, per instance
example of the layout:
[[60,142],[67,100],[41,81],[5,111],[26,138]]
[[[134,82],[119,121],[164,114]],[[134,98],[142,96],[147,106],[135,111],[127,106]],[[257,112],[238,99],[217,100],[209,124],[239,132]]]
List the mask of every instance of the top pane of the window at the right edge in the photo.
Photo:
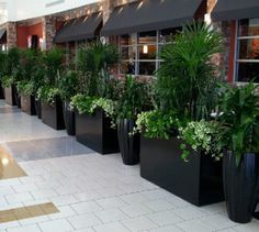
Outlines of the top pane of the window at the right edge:
[[239,36],[259,35],[259,19],[239,21]]

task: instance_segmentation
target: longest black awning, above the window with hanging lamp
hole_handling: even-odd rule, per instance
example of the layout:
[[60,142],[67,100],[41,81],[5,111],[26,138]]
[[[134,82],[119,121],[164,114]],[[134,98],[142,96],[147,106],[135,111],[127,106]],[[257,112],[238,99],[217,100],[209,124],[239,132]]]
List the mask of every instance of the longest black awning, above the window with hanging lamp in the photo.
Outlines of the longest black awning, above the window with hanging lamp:
[[192,21],[203,0],[144,0],[117,7],[102,35],[177,27]]

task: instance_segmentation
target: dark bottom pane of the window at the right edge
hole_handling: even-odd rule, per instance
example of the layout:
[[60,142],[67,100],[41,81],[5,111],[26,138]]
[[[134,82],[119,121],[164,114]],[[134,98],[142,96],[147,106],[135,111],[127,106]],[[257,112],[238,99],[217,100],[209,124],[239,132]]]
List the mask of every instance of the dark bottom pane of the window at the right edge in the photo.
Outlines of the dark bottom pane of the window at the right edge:
[[259,63],[238,63],[237,70],[237,81],[249,82],[255,79],[256,82],[259,82]]

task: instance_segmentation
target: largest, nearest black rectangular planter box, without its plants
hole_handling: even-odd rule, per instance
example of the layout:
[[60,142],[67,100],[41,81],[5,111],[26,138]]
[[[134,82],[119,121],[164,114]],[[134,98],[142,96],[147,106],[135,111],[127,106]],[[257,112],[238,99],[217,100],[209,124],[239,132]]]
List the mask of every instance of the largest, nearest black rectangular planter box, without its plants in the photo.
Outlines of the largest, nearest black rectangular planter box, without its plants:
[[222,162],[190,150],[184,162],[177,137],[140,142],[140,176],[195,206],[224,200]]

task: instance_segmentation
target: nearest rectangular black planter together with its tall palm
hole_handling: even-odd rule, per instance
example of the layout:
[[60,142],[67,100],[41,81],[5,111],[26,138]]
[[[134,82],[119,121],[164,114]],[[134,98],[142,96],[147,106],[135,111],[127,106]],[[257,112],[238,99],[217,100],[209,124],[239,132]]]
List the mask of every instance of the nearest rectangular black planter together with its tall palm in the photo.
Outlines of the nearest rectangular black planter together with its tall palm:
[[189,145],[190,158],[183,162],[179,128],[191,121],[210,121],[217,103],[212,56],[219,51],[221,35],[209,25],[183,26],[161,51],[154,110],[140,113],[136,122],[142,132],[142,177],[195,206],[224,199],[222,163]]

